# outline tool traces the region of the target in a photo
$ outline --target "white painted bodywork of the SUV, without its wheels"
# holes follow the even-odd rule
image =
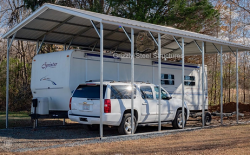
[[[100,124],[100,98],[88,98],[86,95],[85,97],[80,97],[75,95],[76,93],[81,93],[82,89],[86,88],[93,88],[97,87],[100,88],[100,82],[90,82],[84,85],[80,85],[76,91],[74,92],[72,99],[71,99],[71,110],[69,110],[69,119],[72,121],[79,122],[81,124]],[[131,89],[120,91],[123,92],[122,95],[118,94],[114,95],[114,91],[118,92],[116,88],[131,88],[130,83],[123,83],[123,82],[104,82],[104,107],[105,107],[105,100],[109,100],[111,104],[111,111],[110,113],[104,113],[102,115],[103,124],[104,125],[112,125],[112,126],[119,126],[123,119],[125,113],[130,113],[131,110]],[[151,91],[149,91],[151,88]],[[158,86],[154,84],[147,84],[147,83],[137,83],[135,84],[135,96],[134,96],[134,115],[137,118],[137,123],[155,123],[158,122],[158,99],[156,97],[156,91],[158,90]],[[87,91],[87,90],[85,90]],[[170,95],[167,93],[165,89],[162,88],[166,94],[165,96]],[[115,93],[116,93],[115,92]],[[148,97],[142,97],[141,92],[152,92],[147,93]],[[100,90],[92,91],[91,93],[96,93],[96,97],[99,96]],[[116,96],[126,96],[124,98],[117,98]],[[88,95],[87,95],[88,96]],[[93,96],[92,94],[89,96]],[[189,110],[185,106],[186,116],[187,119],[189,117]],[[86,108],[87,107],[87,108]],[[182,100],[171,98],[171,99],[162,99],[161,100],[161,121],[162,122],[172,122],[175,119],[178,110],[182,108]]]

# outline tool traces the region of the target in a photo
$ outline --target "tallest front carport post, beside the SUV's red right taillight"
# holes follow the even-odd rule
[[[98,31],[97,31],[98,32]],[[100,139],[103,137],[103,24],[100,23]]]

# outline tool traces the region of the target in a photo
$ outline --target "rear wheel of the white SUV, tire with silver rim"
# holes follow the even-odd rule
[[[121,135],[130,135],[131,134],[132,127],[131,127],[131,125],[128,126],[129,122],[131,123],[131,114],[128,113],[128,114],[123,115],[122,122],[121,122],[120,126],[118,127],[119,134],[121,134]],[[134,117],[133,124],[134,124],[134,133],[135,133],[136,128],[137,128],[137,121],[136,121],[135,117]]]

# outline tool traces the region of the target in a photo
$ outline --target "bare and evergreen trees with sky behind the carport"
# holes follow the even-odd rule
[[[250,44],[248,0],[0,0],[0,35],[17,25],[44,3],[90,10],[158,25],[211,35],[230,42]],[[41,53],[60,50],[45,44]],[[6,102],[6,40],[0,38],[0,110]],[[29,111],[31,63],[36,43],[14,41],[10,51],[11,111]],[[178,61],[178,60],[175,60]],[[201,64],[201,56],[186,56],[185,62]],[[236,101],[236,60],[223,54],[223,101]],[[220,56],[205,55],[208,66],[209,105],[220,103]],[[239,101],[249,104],[249,51],[239,53]]]

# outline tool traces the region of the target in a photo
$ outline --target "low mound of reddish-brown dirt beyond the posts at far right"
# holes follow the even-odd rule
[[[209,111],[220,112],[220,105],[210,106]],[[231,112],[235,112],[235,111],[236,111],[236,103],[235,102],[229,102],[229,103],[223,104],[223,112],[224,113],[231,113]],[[239,102],[239,112],[240,113],[250,112],[250,104],[243,104],[243,103]]]

